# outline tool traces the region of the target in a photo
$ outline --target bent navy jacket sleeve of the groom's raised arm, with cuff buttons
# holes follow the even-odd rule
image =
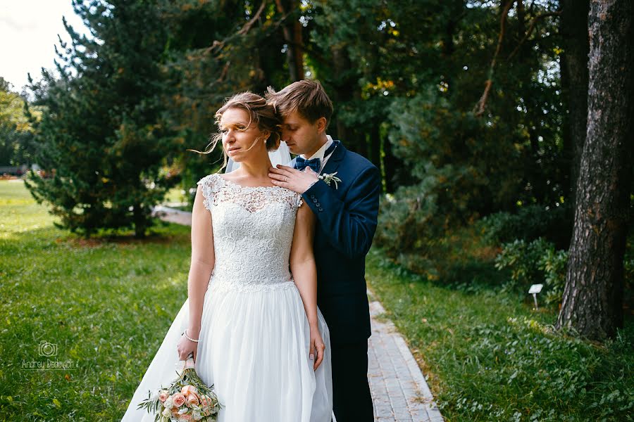
[[[380,173],[378,168],[366,167],[352,181],[345,202],[335,195],[335,188],[317,181],[302,194],[315,213],[330,243],[349,258],[368,253],[376,231]]]

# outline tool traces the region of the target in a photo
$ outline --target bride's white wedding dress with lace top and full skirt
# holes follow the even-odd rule
[[[213,384],[218,422],[329,422],[332,374],[328,326],[321,366],[309,359],[310,328],[289,271],[301,196],[280,187],[244,187],[219,174],[201,179],[211,212],[216,264],[201,317],[196,371]],[[305,205],[304,205],[305,206]],[[189,322],[189,300],[154,356],[123,421],[150,422],[137,405],[175,379],[176,345]]]

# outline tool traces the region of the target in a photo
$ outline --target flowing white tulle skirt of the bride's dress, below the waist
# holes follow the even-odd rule
[[[218,422],[330,422],[330,334],[318,310],[326,349],[316,371],[309,358],[310,328],[297,287],[290,282],[241,290],[212,281],[205,294],[196,371],[213,384],[223,409]],[[189,323],[180,308],[122,421],[154,422],[137,405],[180,369],[176,345]]]

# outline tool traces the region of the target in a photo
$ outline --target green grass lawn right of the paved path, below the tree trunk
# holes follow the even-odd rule
[[[472,275],[469,275],[470,277]],[[592,345],[552,333],[554,309],[449,288],[368,256],[367,279],[406,337],[447,421],[632,421],[634,330]]]

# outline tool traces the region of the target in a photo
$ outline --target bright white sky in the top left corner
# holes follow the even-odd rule
[[[0,76],[13,91],[22,91],[27,72],[38,80],[42,67],[55,68],[57,34],[70,40],[62,16],[75,31],[87,33],[70,0],[0,0]]]

